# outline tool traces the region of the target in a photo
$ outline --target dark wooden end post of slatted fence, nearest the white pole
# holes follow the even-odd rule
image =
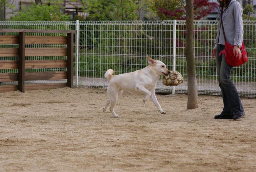
[[[74,88],[73,80],[73,33],[67,33],[67,87]]]

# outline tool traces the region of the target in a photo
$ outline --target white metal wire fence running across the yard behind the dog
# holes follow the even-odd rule
[[[160,78],[157,92],[187,92],[185,21],[0,22],[0,28],[77,30],[74,36],[74,73],[78,87],[106,88],[108,80],[104,73],[108,68],[115,70],[116,75],[133,72],[148,65],[148,55],[184,76],[184,83],[175,89],[163,85]],[[194,54],[200,94],[221,95],[216,61],[211,57],[216,34],[217,21],[194,21]],[[256,21],[244,21],[244,43],[249,59],[232,70],[232,80],[241,96],[256,97],[255,37]]]

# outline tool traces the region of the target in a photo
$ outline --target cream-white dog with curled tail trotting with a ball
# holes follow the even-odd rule
[[[111,104],[111,113],[116,118],[120,117],[116,115],[114,106],[119,95],[123,92],[123,90],[126,90],[134,94],[144,94],[144,103],[150,97],[161,114],[166,113],[163,111],[162,107],[157,101],[157,97],[155,96],[155,87],[160,75],[168,75],[170,71],[166,68],[166,65],[163,62],[159,60],[153,60],[148,56],[147,58],[149,65],[141,70],[136,70],[135,72],[123,73],[113,76],[114,70],[107,70],[105,77],[109,79],[109,85],[107,88],[109,100],[107,101],[103,112],[105,112],[108,105]]]

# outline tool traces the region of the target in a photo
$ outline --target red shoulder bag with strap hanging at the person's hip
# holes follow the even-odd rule
[[[248,60],[248,55],[244,46],[244,42],[242,42],[242,47],[240,48],[241,54],[242,54],[242,58],[236,57],[234,55],[234,46],[230,45],[227,42],[226,39],[226,35],[225,35],[225,31],[224,31],[224,26],[223,26],[223,22],[222,22],[222,14],[223,14],[223,7],[221,9],[221,26],[222,26],[222,31],[223,31],[223,35],[224,35],[224,39],[225,39],[225,49],[222,50],[219,55],[224,54],[225,55],[225,59],[227,64],[231,65],[231,66],[239,66],[242,65],[243,63],[247,62]]]

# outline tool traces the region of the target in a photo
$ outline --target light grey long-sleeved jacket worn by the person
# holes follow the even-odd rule
[[[239,48],[243,42],[243,8],[236,0],[232,0],[229,6],[224,10],[222,21],[227,38],[230,45],[237,45]],[[221,26],[221,7],[218,8],[218,31],[215,40],[215,48],[217,44],[225,44],[222,26]]]

